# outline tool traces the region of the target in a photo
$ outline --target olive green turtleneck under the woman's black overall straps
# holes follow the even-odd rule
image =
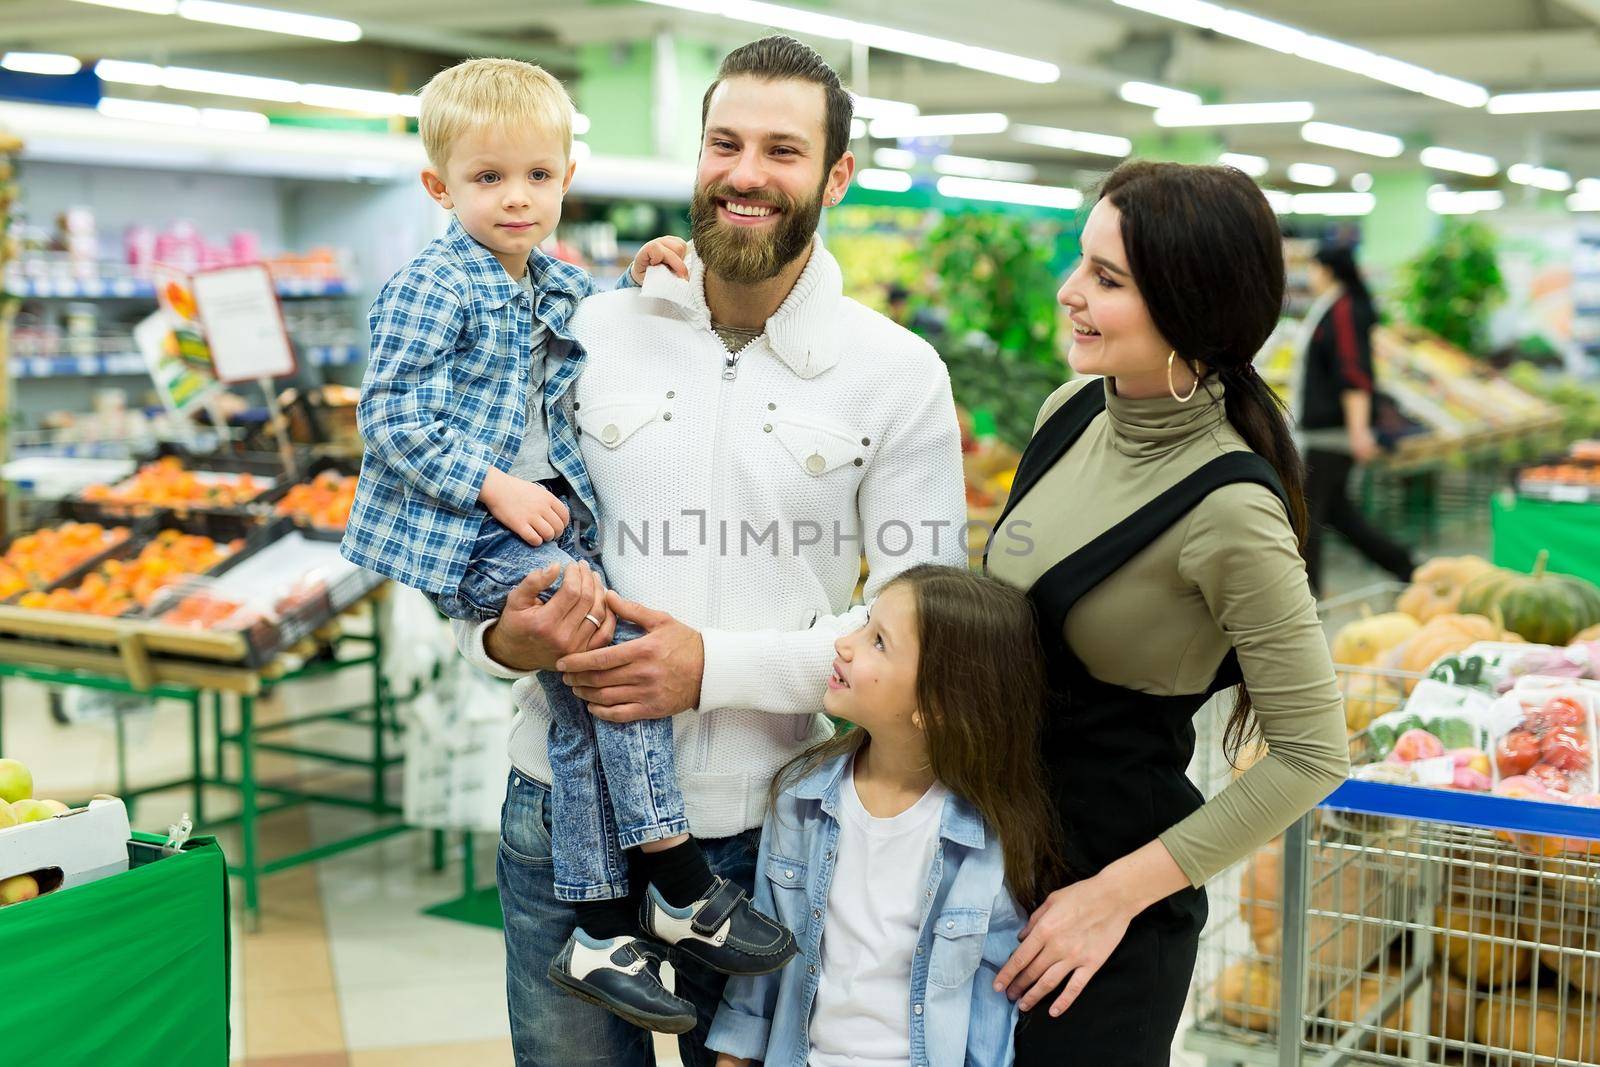
[[[1038,424],[1078,389],[1106,389],[1106,414],[1018,502],[989,550],[990,573],[1019,589],[1208,461],[1250,448],[1216,381],[1187,403],[1128,400],[1110,379],[1072,381],[1045,402]],[[1211,493],[1085,593],[1064,638],[1101,681],[1160,696],[1203,691],[1237,649],[1269,755],[1162,833],[1192,885],[1280,833],[1349,771],[1306,566],[1283,504],[1264,486]]]

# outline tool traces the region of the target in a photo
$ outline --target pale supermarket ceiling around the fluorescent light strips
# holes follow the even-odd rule
[[[70,0],[0,0],[0,50],[146,59],[410,91],[464,54],[522,56],[573,75],[578,45],[648,40],[666,32],[733,46],[763,32],[752,24],[634,0],[269,2],[352,19],[365,37],[355,45],[331,45]],[[1579,178],[1600,176],[1600,112],[1490,115],[1112,0],[834,0],[821,6],[830,14],[1046,59],[1062,69],[1059,82],[1032,85],[872,51],[867,91],[910,101],[923,112],[1002,110],[1014,122],[1139,138],[1158,133],[1150,109],[1125,104],[1115,93],[1122,80],[1139,78],[1198,91],[1218,102],[1306,99],[1317,106],[1318,120],[1406,139],[1403,157],[1381,160],[1306,144],[1298,125],[1219,131],[1229,149],[1269,157],[1275,178],[1290,162],[1330,163],[1346,176],[1416,166],[1416,150],[1426,144],[1486,152],[1502,166],[1526,160]],[[1238,0],[1232,6],[1475,82],[1491,93],[1600,90],[1600,0]],[[981,22],[974,10],[982,13]],[[840,66],[846,80],[861,80],[861,72],[851,70],[850,45],[822,38],[811,43]],[[163,98],[160,91],[149,94]],[[581,104],[581,83],[576,96]],[[165,98],[248,106],[222,98]],[[592,118],[605,122],[605,115]],[[1030,162],[1043,179],[1062,182],[1107,162],[1019,144],[1005,134],[960,138],[952,150]],[[1451,184],[1470,186],[1472,179],[1453,176]]]

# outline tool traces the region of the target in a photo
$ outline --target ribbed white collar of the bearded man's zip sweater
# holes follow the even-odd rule
[[[666,267],[645,272],[642,291],[667,301],[701,330],[710,330],[706,306],[706,261],[690,246],[690,277],[680,278]],[[838,262],[811,238],[811,259],[789,290],[789,296],[766,320],[766,344],[773,354],[800,378],[816,378],[838,363],[838,302],[845,294],[845,278]]]

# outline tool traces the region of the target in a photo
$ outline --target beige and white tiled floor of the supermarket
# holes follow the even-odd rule
[[[1482,547],[1466,531],[1450,545]],[[1328,547],[1330,593],[1381,577],[1342,544]],[[10,753],[27,760],[43,793],[86,797],[115,787],[114,736],[106,723],[62,726],[38,686],[6,683]],[[296,709],[325,705],[336,693],[285,693]],[[282,713],[267,702],[262,717]],[[131,776],[154,781],[186,773],[189,725],[178,705],[130,720]],[[326,726],[294,731],[331,744]],[[293,776],[282,757],[262,757],[266,779]],[[186,793],[146,800],[134,817],[162,829]],[[331,811],[331,813],[330,813]],[[365,816],[322,809],[285,813],[264,824],[264,851],[277,854],[363,825]],[[232,838],[222,833],[224,846]],[[493,841],[477,848],[482,878],[493,872]],[[262,923],[234,931],[234,1064],[248,1067],[507,1067],[512,1064],[504,1006],[504,949],[498,931],[422,915],[461,891],[459,862],[434,872],[424,833],[389,838],[264,881]],[[235,893],[235,902],[238,894]],[[677,1064],[661,1049],[662,1064]],[[1203,1061],[1174,1048],[1174,1064]]]

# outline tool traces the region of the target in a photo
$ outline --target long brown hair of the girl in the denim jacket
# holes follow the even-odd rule
[[[1032,910],[1066,885],[1038,752],[1045,669],[1034,609],[1016,589],[954,566],[914,566],[893,587],[917,605],[917,710],[933,774],[1000,837],[1006,886]],[[773,795],[866,742],[864,729],[846,729],[813,745],[778,773]]]

